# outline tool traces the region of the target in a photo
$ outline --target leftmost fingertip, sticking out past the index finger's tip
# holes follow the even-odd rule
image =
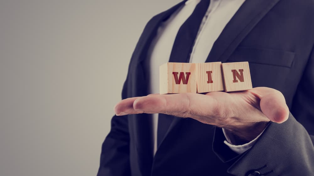
[[[143,111],[137,111],[133,109],[133,102],[139,97],[127,98],[116,104],[114,111],[117,116],[123,116],[127,114],[139,114]]]

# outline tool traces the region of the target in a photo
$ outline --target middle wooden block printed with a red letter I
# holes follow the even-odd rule
[[[224,91],[221,62],[196,64],[197,93]]]

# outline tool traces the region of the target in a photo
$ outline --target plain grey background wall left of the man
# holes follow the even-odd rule
[[[179,0],[0,0],[0,175],[96,175],[145,23]]]

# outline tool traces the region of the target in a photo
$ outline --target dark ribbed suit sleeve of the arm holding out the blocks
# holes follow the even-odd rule
[[[314,49],[297,87],[288,120],[282,124],[270,122],[255,145],[238,156],[225,155],[228,151],[223,146],[223,133],[216,128],[213,150],[223,162],[236,158],[227,170],[233,175],[314,175],[313,141]]]

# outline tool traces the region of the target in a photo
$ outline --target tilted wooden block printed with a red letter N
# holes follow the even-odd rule
[[[225,91],[245,91],[252,89],[248,62],[230,62],[222,64]]]

